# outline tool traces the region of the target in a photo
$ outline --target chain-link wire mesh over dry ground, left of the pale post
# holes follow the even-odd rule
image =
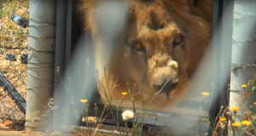
[[[29,0],[0,0],[0,122],[26,113]]]

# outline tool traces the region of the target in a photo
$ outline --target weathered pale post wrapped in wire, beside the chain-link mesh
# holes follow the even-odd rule
[[[26,93],[26,129],[29,131],[44,131],[49,127],[49,116],[44,116],[48,108],[44,105],[48,105],[54,86],[55,8],[55,0],[30,1]]]

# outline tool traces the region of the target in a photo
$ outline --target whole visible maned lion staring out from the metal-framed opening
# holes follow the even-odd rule
[[[85,31],[90,31],[95,44],[98,91],[104,103],[134,100],[139,108],[153,99],[150,108],[162,109],[188,91],[189,80],[211,43],[212,1],[197,0],[196,6],[191,0],[82,1],[80,10]],[[120,8],[125,15],[108,8],[114,4],[127,5]],[[111,13],[117,15],[108,20],[104,14]],[[112,20],[117,21],[111,24]],[[118,30],[108,28],[111,25]],[[108,36],[108,31],[116,33]]]

